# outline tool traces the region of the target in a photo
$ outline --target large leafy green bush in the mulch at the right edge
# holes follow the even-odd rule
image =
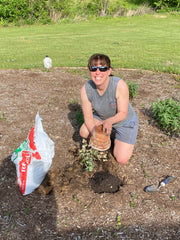
[[[166,131],[168,135],[180,134],[180,103],[167,98],[162,101],[152,103],[152,110],[159,127]]]

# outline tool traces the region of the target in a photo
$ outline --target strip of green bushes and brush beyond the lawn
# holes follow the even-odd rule
[[[178,9],[180,0],[0,0],[0,23],[43,24],[62,18],[123,15],[130,4]]]

